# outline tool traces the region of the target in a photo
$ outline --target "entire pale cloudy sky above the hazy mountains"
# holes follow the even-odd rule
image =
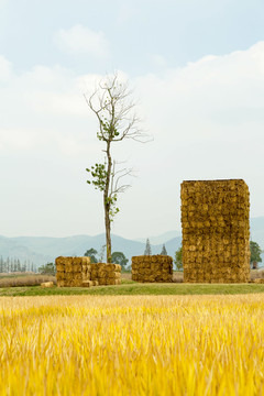
[[[146,144],[116,143],[134,169],[112,232],[180,230],[180,183],[243,178],[264,216],[262,0],[0,0],[0,234],[96,235],[103,162],[84,94],[127,79]]]

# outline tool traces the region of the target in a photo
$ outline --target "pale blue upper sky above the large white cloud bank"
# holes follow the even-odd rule
[[[16,70],[62,64],[76,73],[111,67],[131,75],[183,66],[208,54],[246,50],[264,35],[262,0],[6,0],[0,15],[0,52]],[[102,32],[108,58],[73,57],[54,44],[57,31],[81,24]],[[160,70],[162,66],[160,65]]]

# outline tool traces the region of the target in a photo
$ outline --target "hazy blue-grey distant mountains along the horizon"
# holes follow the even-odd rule
[[[174,256],[180,246],[182,237],[179,231],[168,231],[161,235],[148,237],[153,254],[160,254],[165,243],[168,255]],[[264,217],[251,219],[251,239],[257,242],[264,250]],[[100,252],[105,245],[105,234],[96,237],[75,235],[67,238],[46,237],[0,237],[0,256],[19,258],[21,262],[30,261],[36,266],[54,261],[59,255],[84,255],[94,248]],[[112,235],[112,252],[123,252],[131,260],[132,255],[144,254],[145,239],[136,241]],[[262,254],[264,265],[264,254]]]

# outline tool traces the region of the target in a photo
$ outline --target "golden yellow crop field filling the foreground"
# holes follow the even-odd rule
[[[2,297],[0,395],[264,395],[264,296]]]

